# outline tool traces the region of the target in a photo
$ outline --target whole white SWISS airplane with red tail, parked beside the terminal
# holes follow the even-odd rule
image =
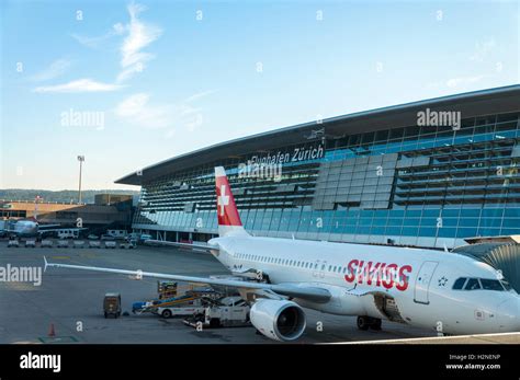
[[[231,273],[259,281],[215,279],[92,266],[76,268],[237,288],[252,303],[250,320],[263,335],[297,339],[304,308],[358,315],[358,326],[389,320],[442,332],[520,331],[520,297],[491,266],[455,253],[251,237],[244,229],[224,168],[215,168],[219,237],[208,250]]]

